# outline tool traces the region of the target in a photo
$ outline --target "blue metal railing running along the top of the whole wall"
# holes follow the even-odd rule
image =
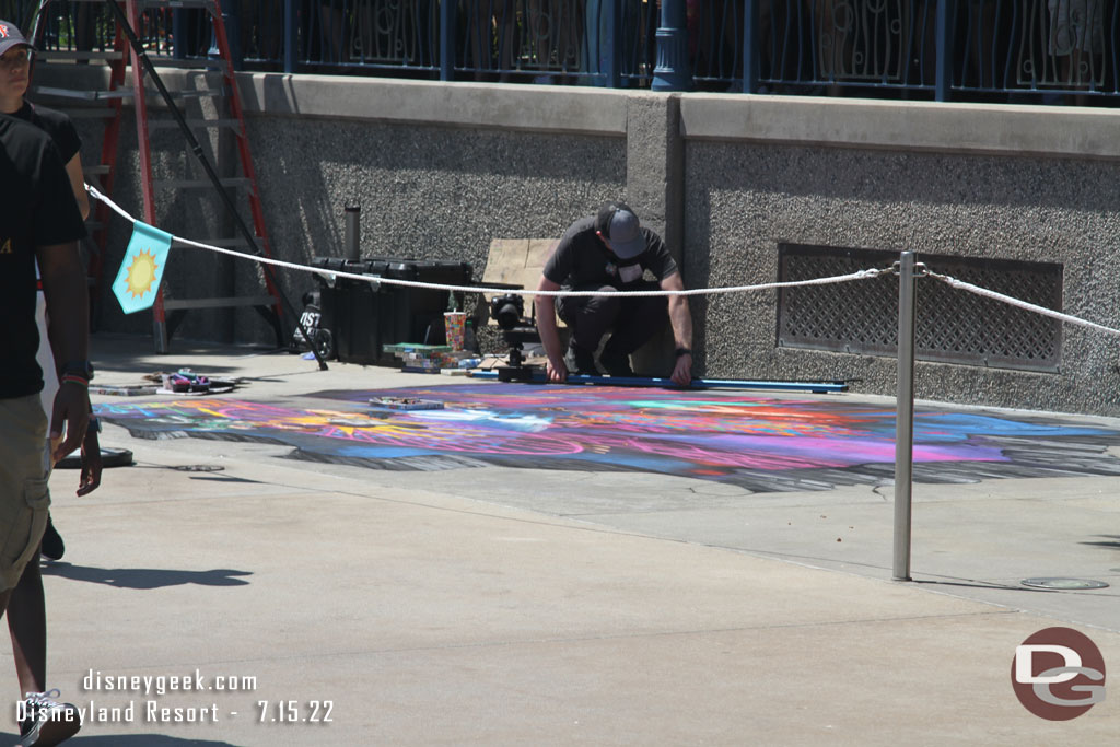
[[[687,6],[687,87],[1114,105],[1120,0],[223,0],[245,69],[647,87],[662,4]],[[37,3],[0,2],[30,28]],[[45,49],[112,44],[54,0]],[[155,55],[198,57],[202,11],[144,11]]]

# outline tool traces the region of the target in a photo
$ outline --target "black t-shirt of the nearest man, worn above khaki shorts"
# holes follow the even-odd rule
[[[58,149],[46,132],[0,114],[0,399],[35,394],[35,248],[85,235]]]

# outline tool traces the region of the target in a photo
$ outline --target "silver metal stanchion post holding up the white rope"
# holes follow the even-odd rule
[[[895,418],[894,579],[909,581],[914,478],[914,253],[898,263],[898,389]]]

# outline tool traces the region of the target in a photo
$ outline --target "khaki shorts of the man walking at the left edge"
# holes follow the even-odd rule
[[[19,582],[47,525],[47,417],[39,395],[0,400],[0,591]]]

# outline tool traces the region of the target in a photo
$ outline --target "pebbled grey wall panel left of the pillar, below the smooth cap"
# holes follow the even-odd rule
[[[469,262],[494,237],[560,235],[624,188],[617,139],[438,127],[254,119],[267,221],[287,261],[344,254],[344,209],[362,207],[363,256]],[[307,153],[319,155],[307,158]],[[295,298],[315,287],[283,272]]]

